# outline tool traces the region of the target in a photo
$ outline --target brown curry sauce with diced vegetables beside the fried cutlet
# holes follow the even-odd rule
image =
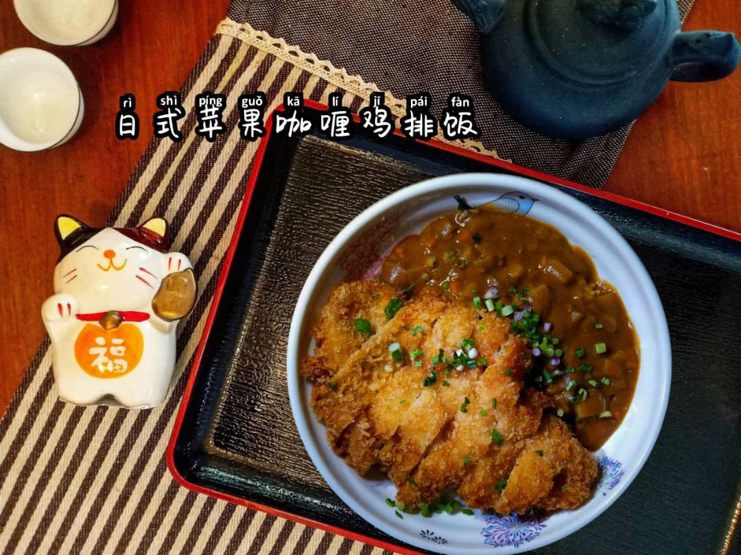
[[[381,275],[399,291],[439,287],[511,318],[532,357],[529,383],[587,448],[622,422],[638,378],[633,324],[589,256],[554,227],[463,203],[402,240]]]

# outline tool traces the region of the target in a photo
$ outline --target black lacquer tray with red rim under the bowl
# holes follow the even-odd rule
[[[319,106],[305,113],[319,120]],[[179,482],[402,553],[330,490],[299,438],[285,350],[303,283],[330,240],[374,201],[458,172],[535,178],[631,243],[656,283],[674,349],[659,439],[628,491],[542,554],[738,553],[741,507],[741,235],[507,162],[358,124],[349,141],[263,139],[167,451]]]

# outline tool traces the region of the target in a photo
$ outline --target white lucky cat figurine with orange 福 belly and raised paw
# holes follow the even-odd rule
[[[150,408],[167,397],[176,327],[196,301],[190,261],[167,252],[167,221],[91,229],[60,215],[62,253],[41,316],[59,397],[78,405]]]

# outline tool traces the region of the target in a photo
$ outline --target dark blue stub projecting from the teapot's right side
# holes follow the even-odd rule
[[[741,48],[733,33],[689,31],[674,37],[669,63],[672,81],[715,81],[734,72]]]

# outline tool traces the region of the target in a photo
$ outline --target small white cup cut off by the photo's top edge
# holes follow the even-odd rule
[[[59,46],[99,41],[119,15],[119,0],[13,0],[13,4],[27,30]]]

